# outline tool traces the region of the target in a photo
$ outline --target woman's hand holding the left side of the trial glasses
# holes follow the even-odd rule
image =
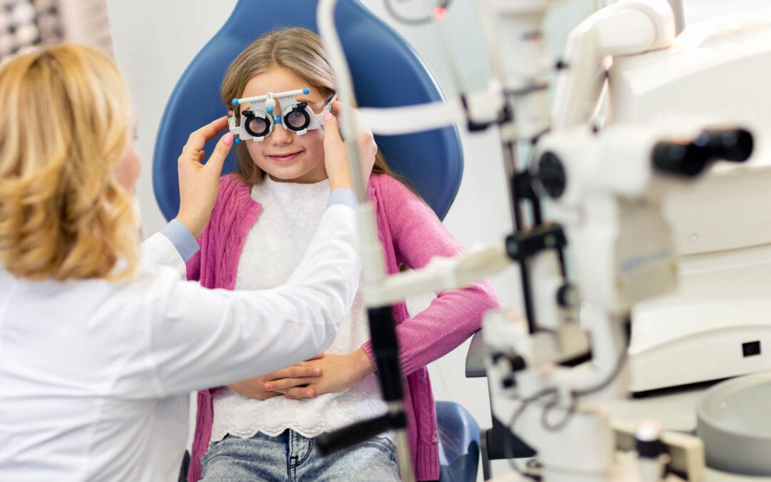
[[[211,154],[207,163],[204,160],[204,144],[214,139],[222,130],[227,129],[227,116],[222,116],[190,134],[177,160],[180,177],[180,211],[177,221],[187,226],[190,233],[198,239],[209,224],[211,210],[217,201],[220,190],[222,164],[233,146],[233,134],[225,134]]]

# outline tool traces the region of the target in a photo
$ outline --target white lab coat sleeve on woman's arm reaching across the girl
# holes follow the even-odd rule
[[[336,204],[287,285],[233,292],[170,283],[152,327],[162,394],[221,386],[323,352],[359,288],[357,250],[354,211]]]

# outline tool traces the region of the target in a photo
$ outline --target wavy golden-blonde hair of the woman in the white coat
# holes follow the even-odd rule
[[[115,179],[130,146],[130,96],[115,62],[49,47],[0,67],[0,262],[15,276],[126,278],[139,238]]]

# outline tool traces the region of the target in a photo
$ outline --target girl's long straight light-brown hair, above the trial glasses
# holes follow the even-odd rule
[[[315,32],[293,27],[261,35],[236,57],[222,80],[220,93],[223,102],[229,109],[233,108],[233,99],[241,97],[249,79],[274,67],[282,67],[305,79],[309,87],[318,90],[327,101],[337,92],[335,72],[329,64],[321,39]],[[345,101],[355,105],[352,99]],[[238,115],[237,109],[234,113]],[[236,146],[236,158],[238,175],[242,180],[254,184],[261,179],[262,171],[251,160],[246,143]],[[372,172],[398,177],[380,153],[375,156]]]

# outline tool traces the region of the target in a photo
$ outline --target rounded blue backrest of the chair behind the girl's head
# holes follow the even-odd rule
[[[231,62],[264,32],[301,26],[318,32],[315,0],[239,0],[219,32],[190,62],[174,88],[156,140],[153,189],[163,215],[179,209],[177,157],[191,132],[227,113],[220,86]],[[356,0],[335,10],[360,106],[391,107],[443,99],[433,75],[416,52]],[[463,152],[455,127],[401,136],[375,137],[380,152],[443,218],[463,174]],[[205,150],[211,152],[214,141]],[[231,153],[224,173],[235,168]]]

